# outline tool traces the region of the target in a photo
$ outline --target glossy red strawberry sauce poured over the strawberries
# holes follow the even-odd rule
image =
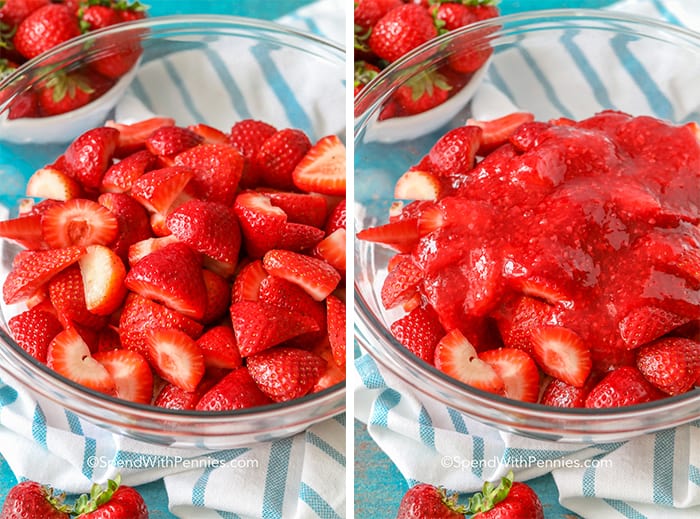
[[[689,125],[619,112],[529,123],[447,182],[436,202],[446,223],[412,252],[446,329],[498,317],[525,293],[552,303],[548,324],[576,331],[595,362],[700,318],[700,145]],[[656,319],[666,319],[656,337],[639,328]]]

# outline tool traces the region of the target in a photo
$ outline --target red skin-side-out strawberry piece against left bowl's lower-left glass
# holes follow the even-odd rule
[[[11,317],[7,325],[20,348],[43,363],[51,340],[63,330],[56,316],[40,307]]]

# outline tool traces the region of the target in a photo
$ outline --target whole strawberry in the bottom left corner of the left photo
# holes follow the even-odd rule
[[[69,519],[69,511],[63,496],[36,481],[23,481],[8,492],[0,519]]]

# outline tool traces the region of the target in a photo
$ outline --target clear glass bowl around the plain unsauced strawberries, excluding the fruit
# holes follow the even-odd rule
[[[84,66],[134,42],[141,46],[140,60],[108,110],[98,103],[67,114],[85,119],[65,127],[58,140],[42,135],[55,132],[50,123],[35,119],[31,142],[0,141],[0,201],[11,213],[36,169],[52,163],[82,131],[108,119],[129,123],[155,114],[172,117],[180,126],[201,122],[228,131],[237,120],[254,118],[301,129],[313,142],[345,132],[341,47],[273,23],[228,16],[159,17],[81,36],[5,78],[0,113],[35,88],[47,70]],[[6,271],[19,249],[2,245]],[[116,433],[154,444],[219,449],[290,436],[345,409],[344,383],[283,404],[221,413],[172,411],[112,398],[72,383],[26,354],[7,326],[18,310],[2,307],[2,380]]]

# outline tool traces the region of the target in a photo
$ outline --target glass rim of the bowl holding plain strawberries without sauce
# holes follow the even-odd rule
[[[263,30],[273,36],[280,35],[290,37],[300,44],[298,50],[311,53],[314,50],[323,50],[320,54],[324,58],[338,60],[338,66],[343,66],[342,73],[345,73],[345,49],[340,43],[330,39],[312,34],[308,31],[300,30],[294,27],[286,26],[276,22],[267,20],[259,20],[256,18],[247,18],[230,15],[169,15],[145,18],[135,20],[118,25],[106,27],[96,31],[92,31],[74,39],[68,40],[42,54],[32,58],[26,63],[18,67],[12,74],[8,74],[0,80],[0,90],[6,88],[13,82],[21,79],[27,73],[35,70],[37,64],[45,63],[52,57],[62,55],[67,51],[79,49],[83,44],[88,43],[95,38],[109,37],[110,35],[118,35],[124,32],[148,30],[147,34],[153,34],[159,31],[158,34],[168,34],[172,31],[178,33],[195,34],[202,33],[207,30],[221,30],[225,33],[227,29],[237,29],[242,33],[251,30]],[[236,32],[235,34],[238,34]],[[11,100],[12,97],[9,98]],[[0,103],[0,110],[9,101],[4,100]],[[1,144],[1,143],[0,143]],[[7,318],[0,313],[0,320],[4,327],[7,328]],[[7,328],[9,331],[9,328]],[[108,423],[116,427],[128,427],[147,432],[151,436],[172,437],[178,434],[200,435],[201,437],[223,437],[232,433],[218,431],[211,434],[200,433],[194,429],[187,428],[188,426],[196,426],[203,421],[206,421],[207,426],[216,428],[217,426],[225,426],[230,424],[253,423],[256,418],[270,419],[280,414],[289,414],[301,408],[316,409],[316,414],[313,420],[307,421],[300,417],[299,420],[280,422],[278,425],[285,427],[295,426],[299,424],[307,424],[310,426],[323,419],[341,414],[346,409],[346,382],[339,382],[331,387],[325,388],[316,393],[309,393],[303,397],[290,400],[287,402],[278,402],[258,406],[247,409],[227,410],[227,411],[196,411],[196,410],[173,410],[159,408],[154,405],[138,404],[127,400],[119,399],[104,393],[100,393],[80,384],[77,384],[53,370],[46,365],[34,359],[31,355],[25,352],[12,339],[9,333],[5,332],[0,327],[0,359],[5,362],[0,363],[0,373],[3,375],[3,382],[13,380],[13,387],[17,385],[27,389],[31,395],[39,395],[49,401],[66,407],[66,402],[71,404],[81,403],[83,405],[79,410],[75,409],[75,405],[69,407],[77,412],[80,416],[97,420],[106,420]],[[12,372],[20,368],[20,373]],[[41,384],[36,384],[29,379],[29,382],[24,378],[26,375],[40,377]],[[48,384],[47,387],[43,387]],[[90,404],[93,404],[90,406]],[[320,411],[319,411],[320,410]],[[105,412],[109,413],[109,418],[105,416]],[[284,412],[284,413],[283,413]],[[122,420],[115,420],[115,416],[121,416]],[[203,420],[206,419],[206,420]],[[143,422],[140,422],[143,420]],[[152,425],[162,424],[162,429],[155,430]],[[167,424],[171,426],[168,427]],[[173,429],[172,425],[182,426],[182,429]],[[250,430],[243,431],[250,433]],[[254,432],[265,432],[264,429]],[[128,434],[128,431],[126,431]],[[236,433],[233,433],[236,434]]]

